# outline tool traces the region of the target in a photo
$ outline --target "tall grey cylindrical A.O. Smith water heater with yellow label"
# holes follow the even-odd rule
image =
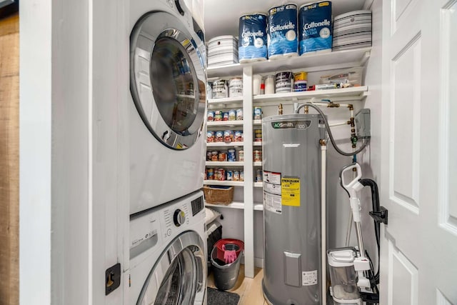
[[[322,117],[269,116],[262,134],[263,295],[275,305],[321,304]]]

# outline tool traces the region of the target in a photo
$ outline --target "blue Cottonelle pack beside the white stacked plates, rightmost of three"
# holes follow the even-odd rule
[[[331,50],[331,1],[319,1],[300,6],[298,29],[300,55],[312,51]]]

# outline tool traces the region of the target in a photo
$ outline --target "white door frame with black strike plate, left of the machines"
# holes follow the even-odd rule
[[[19,5],[21,303],[122,304],[104,286],[129,267],[129,1]]]

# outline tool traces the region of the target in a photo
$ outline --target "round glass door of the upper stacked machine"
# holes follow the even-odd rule
[[[136,109],[156,139],[171,149],[192,146],[204,126],[203,42],[166,12],[143,16],[131,33],[130,88]]]

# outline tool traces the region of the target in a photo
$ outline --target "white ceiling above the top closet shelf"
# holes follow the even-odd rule
[[[366,0],[333,0],[333,16],[363,9]],[[313,1],[278,1],[278,0],[204,0],[204,23],[206,41],[216,36],[238,36],[238,21],[243,14],[264,13],[273,6],[293,3],[300,7]],[[314,1],[316,2],[316,1]],[[369,0],[367,1],[369,2]]]

